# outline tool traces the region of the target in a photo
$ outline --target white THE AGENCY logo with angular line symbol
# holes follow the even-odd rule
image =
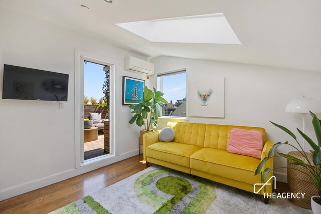
[[[269,181],[272,180],[272,183],[269,183]],[[272,175],[265,183],[255,183],[253,186],[253,192],[254,193],[259,193],[264,186],[266,185],[272,185],[274,184],[274,189],[276,188],[276,177],[274,175]],[[261,187],[259,188],[259,190],[255,191],[255,186],[260,185]],[[269,197],[269,198],[304,198],[305,192],[263,192],[264,197]]]

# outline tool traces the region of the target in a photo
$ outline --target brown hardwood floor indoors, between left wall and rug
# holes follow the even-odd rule
[[[151,164],[152,165],[152,164]],[[0,213],[48,213],[147,168],[136,155],[91,172],[0,201]],[[276,192],[288,192],[277,182]]]

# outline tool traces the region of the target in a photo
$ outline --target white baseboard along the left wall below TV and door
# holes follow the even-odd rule
[[[95,170],[97,168],[101,168],[103,166],[107,166],[109,164],[118,162],[120,160],[124,160],[126,158],[135,156],[137,154],[138,154],[138,149],[134,149],[132,151],[120,154],[118,156],[111,156],[110,158],[106,158],[104,160],[99,160],[97,162],[81,166],[80,168],[77,168],[77,169],[70,169],[70,170],[53,174],[47,177],[22,183],[16,186],[11,186],[9,188],[1,189],[0,201],[35,190],[35,189],[42,188],[44,186],[51,185],[53,183],[60,182],[62,180],[66,180],[68,178]]]

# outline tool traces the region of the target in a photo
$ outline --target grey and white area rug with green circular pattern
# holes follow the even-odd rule
[[[270,199],[153,165],[51,213],[302,213],[287,199]]]

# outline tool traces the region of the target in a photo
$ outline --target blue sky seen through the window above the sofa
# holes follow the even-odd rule
[[[186,73],[163,76],[164,98],[170,103],[186,97]]]

